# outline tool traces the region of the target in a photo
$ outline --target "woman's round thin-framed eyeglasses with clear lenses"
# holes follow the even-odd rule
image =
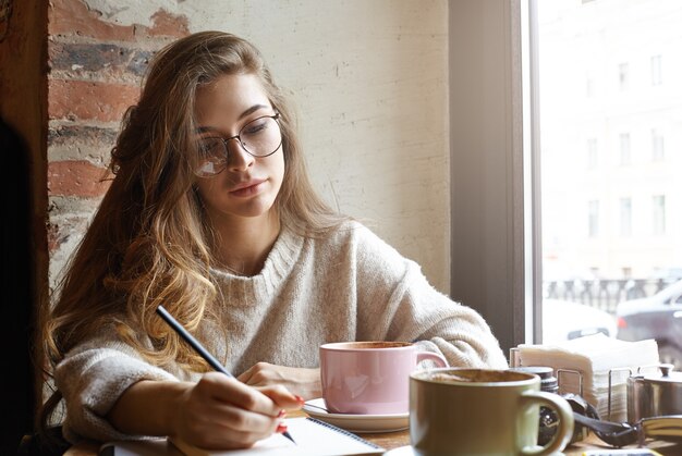
[[[242,149],[253,157],[268,157],[277,152],[282,145],[282,132],[279,126],[279,116],[264,115],[254,119],[240,130],[239,134],[223,138],[219,136],[204,137],[199,140],[199,165],[195,174],[199,177],[210,177],[220,174],[228,167],[228,141],[236,139]]]

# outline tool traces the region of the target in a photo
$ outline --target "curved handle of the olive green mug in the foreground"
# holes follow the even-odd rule
[[[522,393],[520,400],[522,408],[540,404],[555,410],[559,417],[557,432],[547,445],[539,448],[536,445],[525,446],[521,449],[521,454],[540,456],[560,452],[565,448],[573,436],[573,409],[568,400],[555,393],[547,393],[545,391],[526,391]]]

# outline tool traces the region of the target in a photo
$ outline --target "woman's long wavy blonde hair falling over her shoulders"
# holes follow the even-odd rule
[[[214,239],[193,188],[194,102],[199,86],[226,74],[257,75],[280,113],[285,171],[275,208],[282,224],[316,236],[345,219],[314,192],[292,108],[253,45],[203,32],[167,46],[148,69],[138,103],[123,119],[111,152],[114,178],[68,264],[54,306],[41,318],[48,374],[71,348],[112,322],[149,362],[207,370],[155,309],[163,304],[191,332],[216,315],[209,276]],[[44,405],[41,427],[60,399],[56,391]]]

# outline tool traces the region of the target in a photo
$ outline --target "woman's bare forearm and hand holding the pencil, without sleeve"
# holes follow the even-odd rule
[[[281,386],[254,389],[211,372],[197,383],[139,381],[121,395],[108,418],[126,434],[171,435],[227,449],[283,432],[284,409],[300,406]]]

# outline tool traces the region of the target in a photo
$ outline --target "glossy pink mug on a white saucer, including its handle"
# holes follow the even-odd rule
[[[334,414],[394,415],[410,408],[410,373],[426,359],[448,361],[409,342],[338,342],[319,347],[322,397]]]

